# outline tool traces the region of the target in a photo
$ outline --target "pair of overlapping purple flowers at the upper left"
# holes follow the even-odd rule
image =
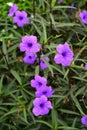
[[[18,27],[23,27],[29,23],[27,13],[25,11],[19,11],[16,4],[10,8],[8,16],[13,17],[13,22],[16,23]]]

